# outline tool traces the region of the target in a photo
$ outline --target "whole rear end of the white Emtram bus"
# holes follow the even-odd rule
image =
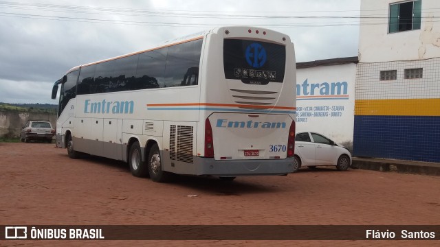
[[[289,36],[221,27],[206,36],[201,64],[197,174],[293,172],[296,66]]]

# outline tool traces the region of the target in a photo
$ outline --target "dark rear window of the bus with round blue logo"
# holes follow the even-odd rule
[[[286,49],[284,45],[255,41],[225,39],[223,66],[226,79],[246,84],[283,82]]]

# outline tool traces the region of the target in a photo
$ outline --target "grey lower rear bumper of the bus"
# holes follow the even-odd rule
[[[195,157],[197,175],[252,176],[284,175],[294,172],[294,158],[270,160],[217,161],[214,158]]]

